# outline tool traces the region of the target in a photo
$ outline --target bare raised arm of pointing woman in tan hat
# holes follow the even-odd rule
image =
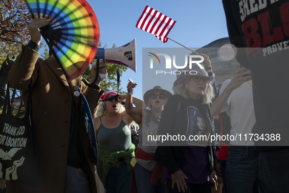
[[[133,118],[133,121],[135,121],[139,126],[142,125],[142,116],[143,113],[145,113],[145,111],[142,109],[142,102],[136,102],[139,103],[137,104],[137,106],[141,107],[141,108],[136,108],[133,107],[133,96],[132,93],[133,92],[133,88],[135,88],[135,86],[137,85],[137,83],[134,83],[133,80],[129,79],[129,83],[128,83],[128,94],[126,97],[126,102],[125,102],[125,108],[126,108],[126,112],[127,114]],[[139,99],[139,98],[138,98]],[[136,104],[134,104],[136,106]]]

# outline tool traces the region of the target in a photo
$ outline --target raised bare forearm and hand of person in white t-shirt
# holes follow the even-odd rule
[[[247,70],[246,68],[241,68],[239,69],[232,81],[228,84],[228,86],[223,90],[223,92],[221,93],[221,95],[219,95],[215,101],[213,102],[212,106],[211,106],[211,113],[212,116],[216,116],[219,115],[222,111],[222,108],[224,107],[224,105],[226,104],[228,98],[230,97],[231,93],[239,88],[243,83],[248,82],[249,80],[251,80],[251,75],[248,76],[244,76],[246,74],[250,74],[250,71]]]

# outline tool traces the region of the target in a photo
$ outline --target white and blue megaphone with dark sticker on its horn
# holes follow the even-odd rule
[[[114,63],[124,65],[136,72],[136,43],[133,41],[117,48],[98,48],[92,65],[96,64],[97,59],[100,62]],[[102,77],[102,74],[99,74]]]

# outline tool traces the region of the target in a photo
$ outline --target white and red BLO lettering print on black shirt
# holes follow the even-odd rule
[[[238,0],[238,4],[250,61],[289,48],[289,2]]]

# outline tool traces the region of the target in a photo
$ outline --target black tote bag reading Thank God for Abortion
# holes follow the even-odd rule
[[[3,112],[0,115],[0,178],[39,187],[38,152],[30,85],[26,108],[24,118],[15,118],[11,114],[8,82]]]

